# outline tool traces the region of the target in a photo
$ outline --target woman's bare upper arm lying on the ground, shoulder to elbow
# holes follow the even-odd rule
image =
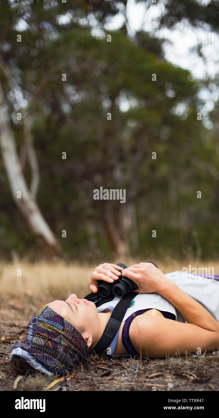
[[[166,354],[203,353],[219,347],[219,332],[161,316],[139,315],[133,319],[129,336],[138,353],[163,358]]]

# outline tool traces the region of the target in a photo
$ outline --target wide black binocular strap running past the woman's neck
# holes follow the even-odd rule
[[[96,354],[103,352],[109,347],[121,325],[121,322],[125,316],[125,313],[128,309],[131,300],[135,296],[136,293],[129,292],[126,296],[124,296],[124,298],[121,299],[121,301],[117,303],[117,305],[113,309],[110,319],[108,320],[108,323],[106,324],[106,328],[103,331],[101,339],[93,348],[93,351],[95,351]]]

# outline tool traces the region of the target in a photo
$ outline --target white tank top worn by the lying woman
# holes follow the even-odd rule
[[[219,281],[182,271],[166,273],[165,276],[176,283],[176,285],[187,293],[187,295],[201,303],[201,305],[204,306],[204,308],[206,308],[206,310],[219,322]],[[110,302],[98,306],[98,310],[103,308],[106,309],[108,306],[115,307],[120,300],[121,299],[114,297]],[[158,293],[136,293],[122,322],[126,321],[133,312],[140,311],[141,309],[158,309],[159,311],[170,312],[176,316],[176,321],[186,322],[180,312]]]

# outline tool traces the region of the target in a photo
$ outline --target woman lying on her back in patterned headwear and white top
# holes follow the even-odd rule
[[[118,265],[104,263],[92,273],[90,289],[98,280],[118,280]],[[219,279],[181,271],[167,273],[151,263],[135,264],[122,272],[137,285],[120,329],[105,352],[163,358],[219,347]],[[42,306],[30,320],[24,338],[13,346],[9,362],[18,373],[39,370],[65,375],[101,339],[120,299],[96,305],[72,294],[66,301]],[[135,314],[135,315],[133,315]]]

